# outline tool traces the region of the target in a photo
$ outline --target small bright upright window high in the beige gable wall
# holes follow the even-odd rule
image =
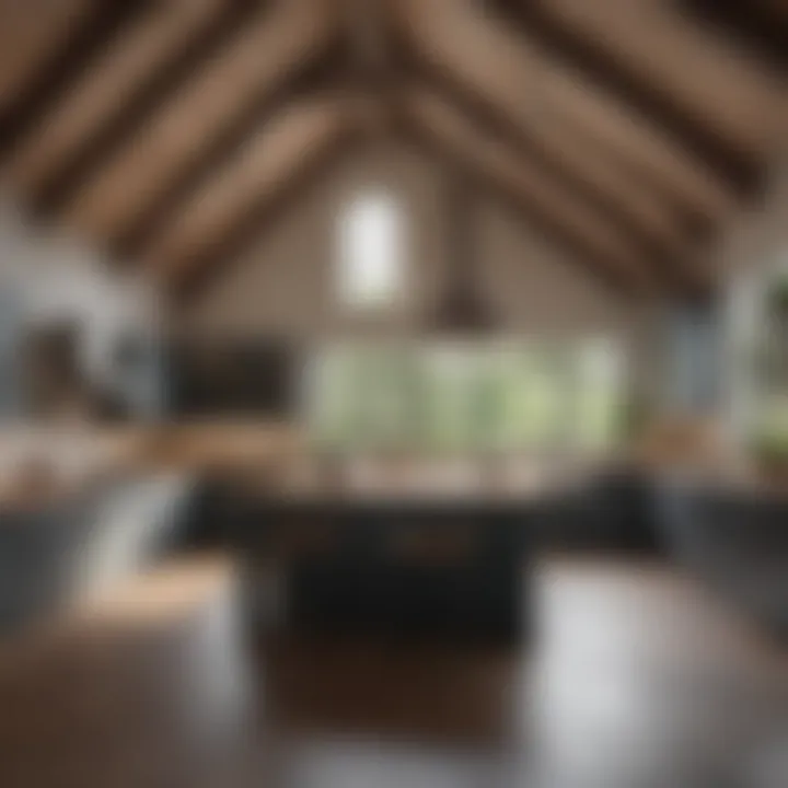
[[[339,217],[337,297],[349,309],[394,305],[403,296],[404,242],[399,202],[386,192],[366,192]]]

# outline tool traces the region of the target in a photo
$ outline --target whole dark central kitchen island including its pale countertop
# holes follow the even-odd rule
[[[387,471],[387,486],[329,472],[290,490],[220,486],[206,519],[224,523],[253,596],[271,572],[280,579],[288,625],[528,639],[533,545],[588,475],[531,476],[506,490],[462,476],[416,489]],[[428,468],[419,472],[424,480]]]

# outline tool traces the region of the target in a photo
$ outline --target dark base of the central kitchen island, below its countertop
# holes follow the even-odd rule
[[[258,498],[232,542],[282,572],[289,624],[518,639],[531,626],[524,501]]]

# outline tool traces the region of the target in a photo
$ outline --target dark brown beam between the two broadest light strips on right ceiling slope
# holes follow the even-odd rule
[[[579,35],[571,27],[545,11],[544,2],[533,0],[496,0],[506,19],[518,25],[524,36],[537,38],[554,57],[570,63],[588,76],[589,82],[599,84],[637,111],[654,125],[664,129],[677,144],[705,166],[720,173],[732,190],[749,196],[762,176],[762,162],[741,150],[726,144],[719,130],[700,124],[687,115],[670,91],[653,79],[646,80],[622,68],[610,57],[602,42]],[[665,53],[670,57],[670,53]]]

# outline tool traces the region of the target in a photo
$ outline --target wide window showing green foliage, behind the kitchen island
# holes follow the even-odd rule
[[[623,372],[603,339],[337,343],[310,368],[311,433],[335,450],[604,450],[623,427]]]

